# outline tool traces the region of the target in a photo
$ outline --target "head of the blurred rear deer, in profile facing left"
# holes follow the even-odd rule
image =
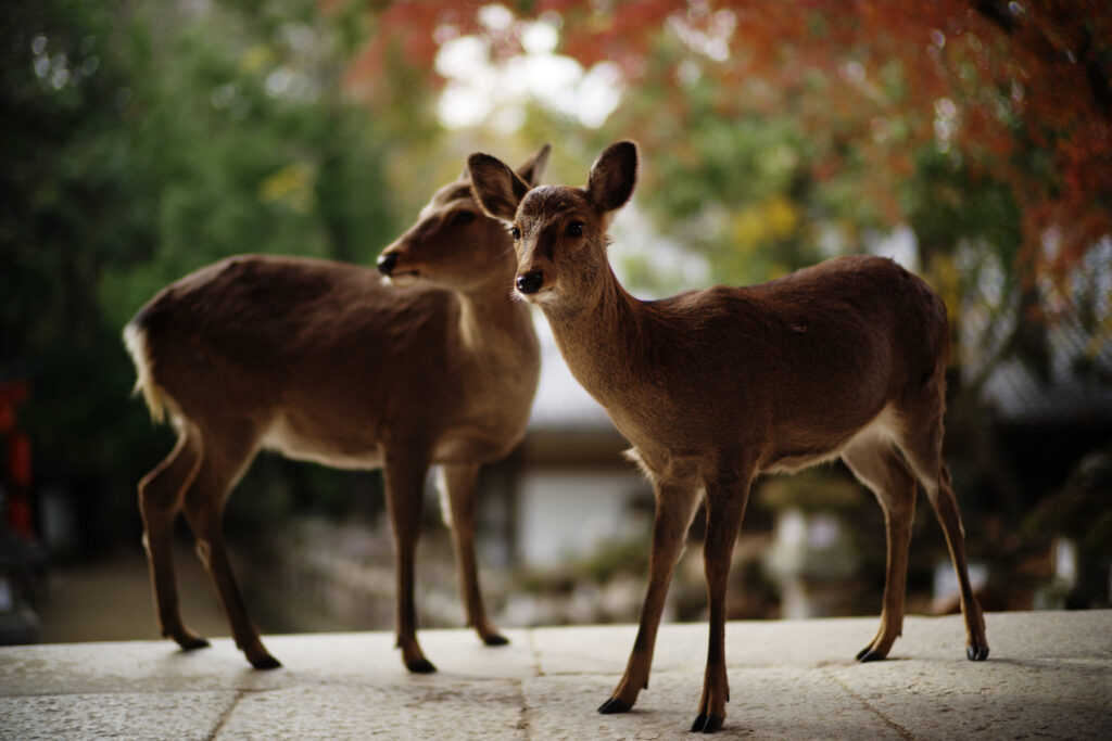
[[[536,186],[550,151],[545,144],[510,174],[529,188]],[[489,254],[476,260],[474,250]],[[378,270],[399,287],[426,281],[438,288],[466,291],[504,279],[505,272],[493,268],[512,263],[513,251],[502,224],[484,214],[465,171],[459,180],[436,191],[421,209],[417,223],[383,250]]]

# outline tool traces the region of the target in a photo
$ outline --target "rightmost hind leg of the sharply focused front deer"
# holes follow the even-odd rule
[[[915,418],[909,415],[907,419]],[[954,497],[950,470],[942,461],[941,411],[929,419],[930,422],[923,428],[905,431],[898,444],[926,490],[926,497],[946,538],[950,559],[961,588],[962,615],[965,618],[965,654],[970,661],[984,661],[989,658],[989,640],[985,637],[984,615],[981,613],[981,605],[973,594],[970,582],[969,561],[965,557],[965,529],[957,512],[957,499]]]

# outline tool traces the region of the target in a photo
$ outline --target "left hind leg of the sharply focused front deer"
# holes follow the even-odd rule
[[[842,453],[842,460],[857,480],[868,487],[884,510],[887,540],[887,572],[884,605],[876,637],[857,653],[857,661],[877,661],[888,655],[903,630],[907,591],[907,549],[915,515],[915,477],[907,464],[883,440],[862,442]]]

